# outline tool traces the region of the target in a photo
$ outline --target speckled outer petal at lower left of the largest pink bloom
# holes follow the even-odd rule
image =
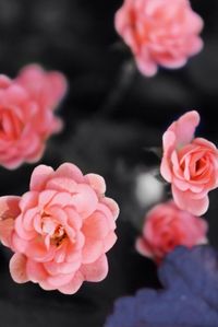
[[[17,283],[25,283],[28,281],[26,275],[26,257],[22,254],[14,254],[10,260],[10,273],[13,280]]]

